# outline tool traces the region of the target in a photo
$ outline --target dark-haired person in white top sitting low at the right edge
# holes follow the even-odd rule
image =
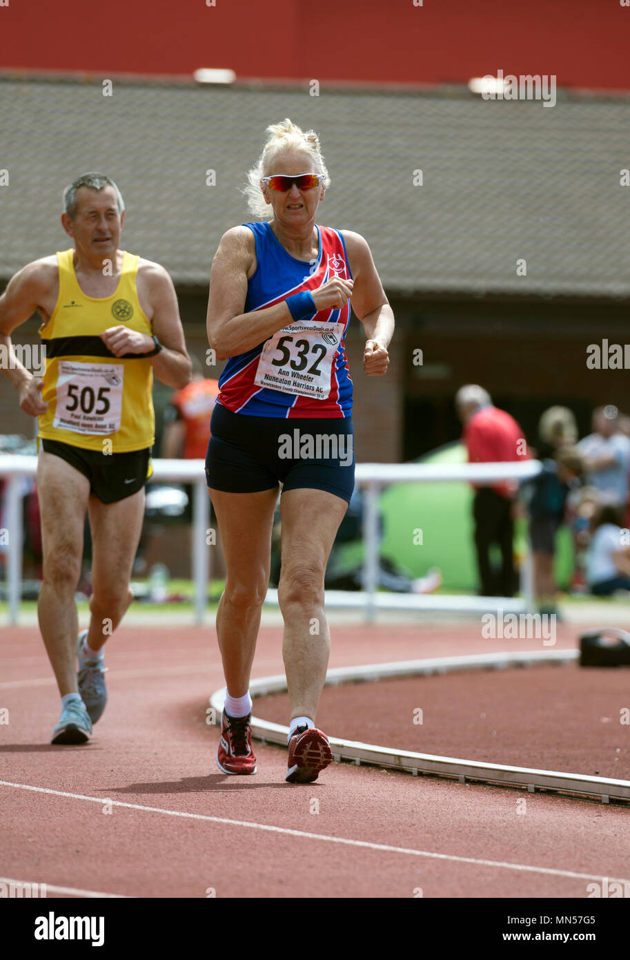
[[[587,582],[595,596],[630,590],[630,545],[620,520],[620,511],[608,504],[595,514],[586,563]]]

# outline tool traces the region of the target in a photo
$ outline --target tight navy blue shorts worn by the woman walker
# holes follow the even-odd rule
[[[355,487],[352,418],[248,417],[215,404],[205,458],[208,487],[232,493],[303,488],[350,502]]]

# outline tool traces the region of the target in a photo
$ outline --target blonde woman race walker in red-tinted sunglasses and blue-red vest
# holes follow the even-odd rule
[[[367,336],[363,371],[386,372],[394,318],[358,233],[315,224],[330,178],[313,131],[268,127],[249,171],[250,211],[266,222],[223,234],[210,278],[210,346],[228,363],[219,380],[206,457],[227,576],[217,612],[227,697],[217,762],[253,774],[249,676],[268,588],[278,484],[282,570],[278,600],[291,702],[291,783],[332,760],[315,729],[330,635],[324,571],[354,488],[352,380],[343,338],[350,300]]]

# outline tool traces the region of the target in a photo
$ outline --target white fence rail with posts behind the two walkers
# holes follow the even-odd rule
[[[37,458],[20,454],[0,454],[0,477],[9,481],[7,490],[7,522],[9,550],[7,555],[7,593],[9,622],[19,620],[22,581],[22,479],[35,477]],[[432,610],[477,612],[501,607],[505,612],[533,609],[531,558],[529,550],[522,567],[522,596],[478,597],[466,595],[422,595],[379,592],[379,510],[378,499],[383,487],[392,483],[473,482],[492,483],[498,480],[525,480],[541,470],[537,460],[499,464],[358,464],[356,483],[364,488],[363,514],[363,590],[327,590],[326,606],[362,608],[365,619],[373,620],[377,610]],[[210,517],[210,501],[206,491],[202,460],[154,460],[152,480],[193,483],[193,581],[194,618],[203,623],[209,575],[209,552],[206,531]],[[150,481],[151,482],[151,481]],[[267,603],[277,605],[277,591],[269,589]]]

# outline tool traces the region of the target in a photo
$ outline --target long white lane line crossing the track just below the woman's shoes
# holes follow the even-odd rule
[[[426,850],[413,850],[409,847],[393,847],[384,843],[371,843],[368,840],[350,840],[347,837],[333,837],[326,833],[311,833],[307,830],[294,830],[288,827],[273,827],[269,824],[255,824],[248,820],[229,820],[227,817],[211,817],[203,813],[188,813],[182,810],[166,810],[161,806],[143,806],[142,804],[125,804],[120,800],[110,800],[107,797],[87,797],[81,793],[66,793],[62,790],[51,790],[43,786],[31,786],[28,783],[12,783],[9,780],[0,780],[0,786],[11,786],[17,790],[32,790],[35,793],[45,793],[53,797],[69,797],[71,800],[85,800],[92,804],[111,804],[125,807],[128,810],[143,810],[147,813],[162,813],[168,817],[184,817],[188,820],[205,820],[211,824],[226,824],[229,827],[247,827],[255,830],[266,830],[269,833],[284,833],[287,836],[302,837],[306,840],[321,840],[325,843],[338,843],[346,847],[361,847],[363,850],[377,850],[383,853],[405,853],[408,856],[424,856],[432,860],[449,860],[452,863],[471,863],[478,867],[497,867],[504,870],[516,870],[529,874],[546,874],[547,876],[568,876],[574,880],[599,880],[603,874],[575,874],[571,870],[554,870],[551,867],[530,867],[524,863],[505,863],[502,860],[479,860],[473,856],[455,856],[453,853],[434,853]],[[630,883],[620,877],[608,877],[616,883]]]

